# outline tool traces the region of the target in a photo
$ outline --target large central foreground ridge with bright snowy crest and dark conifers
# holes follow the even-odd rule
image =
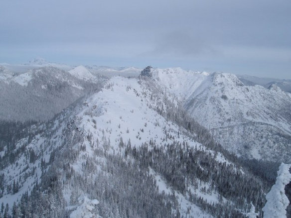
[[[261,182],[154,81],[114,77],[28,129],[0,150],[13,215],[244,217],[264,205]]]

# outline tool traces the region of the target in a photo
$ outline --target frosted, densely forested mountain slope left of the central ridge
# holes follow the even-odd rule
[[[93,76],[90,80],[81,80],[54,67],[14,75],[5,71],[0,73],[0,119],[51,119],[77,99],[99,89],[103,81],[101,77]]]

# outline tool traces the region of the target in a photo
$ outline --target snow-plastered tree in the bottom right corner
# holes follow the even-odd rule
[[[285,195],[285,186],[291,182],[290,168],[291,164],[280,165],[276,183],[267,194],[267,203],[262,209],[264,218],[286,218],[289,199]]]

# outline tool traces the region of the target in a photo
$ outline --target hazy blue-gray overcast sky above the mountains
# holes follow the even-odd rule
[[[34,57],[291,79],[291,0],[2,0],[0,63]]]

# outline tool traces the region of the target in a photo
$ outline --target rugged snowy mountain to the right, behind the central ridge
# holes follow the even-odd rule
[[[230,151],[291,161],[291,95],[273,85],[245,86],[235,75],[152,69],[152,78]]]

